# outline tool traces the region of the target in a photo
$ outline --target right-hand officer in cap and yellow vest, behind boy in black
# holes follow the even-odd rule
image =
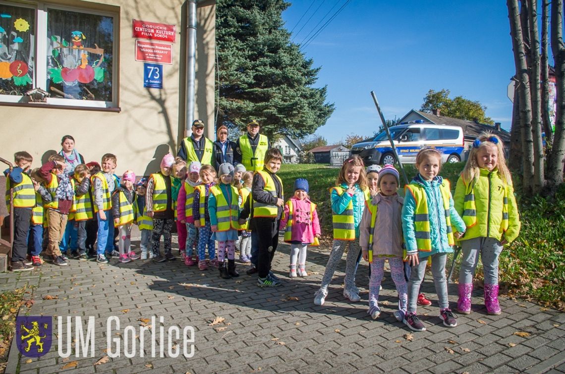
[[[234,163],[243,164],[249,171],[260,171],[264,167],[264,157],[271,148],[269,139],[259,134],[260,125],[253,120],[247,124],[247,133],[240,136],[233,153]]]

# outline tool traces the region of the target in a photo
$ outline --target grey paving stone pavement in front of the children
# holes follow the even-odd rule
[[[133,242],[138,245],[138,242]],[[222,280],[215,268],[199,271],[187,268],[180,258],[166,263],[137,260],[109,264],[69,260],[68,267],[44,264],[28,273],[0,275],[0,292],[36,286],[34,305],[20,315],[53,316],[53,346],[41,358],[21,356],[14,344],[10,349],[7,373],[138,373],[144,371],[190,373],[482,373],[482,372],[565,372],[565,314],[525,301],[501,298],[502,314],[486,314],[480,291],[473,292],[473,312],[458,315],[455,328],[444,327],[438,318],[437,297],[430,277],[423,292],[432,306],[419,307],[427,325],[425,332],[410,332],[394,319],[397,298],[388,272],[385,272],[380,304],[383,314],[373,321],[367,315],[368,268],[359,266],[357,285],[362,301],[350,303],[342,295],[345,258],[332,282],[326,303],[312,303],[318,289],[328,252],[308,250],[305,278],[288,278],[289,246],[281,243],[273,271],[283,280],[277,288],[258,288],[256,276],[247,276],[238,264],[238,279]],[[449,288],[455,309],[457,288]],[[46,295],[58,297],[44,300]],[[63,343],[67,316],[95,321],[94,354],[63,359],[58,354],[58,316],[63,317]],[[107,319],[119,318],[120,328]],[[165,327],[164,341],[157,338],[157,356],[151,355],[150,332],[145,332],[144,357],[140,356],[138,319],[159,316]],[[225,320],[209,325],[217,317]],[[124,329],[131,325],[135,330]],[[194,329],[194,355],[177,358],[167,355],[169,326]],[[75,333],[74,323],[72,333]],[[133,330],[133,328],[129,328]],[[527,332],[520,337],[515,332]],[[411,333],[412,340],[405,334]],[[135,335],[134,335],[135,334]],[[189,336],[190,337],[190,336]],[[107,354],[107,338],[119,342],[122,354],[107,363],[95,363]],[[136,342],[136,354],[124,356],[125,341]],[[181,349],[182,337],[173,336]],[[75,342],[71,345],[74,347]],[[115,344],[112,343],[112,346]],[[160,345],[165,354],[159,356]],[[128,343],[128,350],[133,350]],[[63,344],[63,351],[66,345]],[[182,351],[182,349],[181,349]],[[174,354],[173,350],[173,354]],[[187,349],[187,353],[189,350]],[[76,363],[76,366],[74,365]],[[70,368],[68,368],[70,367]],[[67,369],[68,368],[68,369]]]

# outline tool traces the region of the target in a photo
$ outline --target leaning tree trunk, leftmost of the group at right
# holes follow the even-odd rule
[[[522,37],[522,25],[518,11],[518,0],[506,0],[510,19],[510,36],[514,50],[516,78],[519,85],[520,122],[523,151],[523,192],[531,195],[533,190],[533,144],[532,144],[532,103],[530,101],[528,66]]]

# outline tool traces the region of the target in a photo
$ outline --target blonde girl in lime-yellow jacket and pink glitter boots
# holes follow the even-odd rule
[[[455,209],[467,225],[467,232],[461,238],[463,259],[457,310],[463,314],[471,312],[473,275],[480,255],[486,311],[498,315],[501,313],[498,256],[503,245],[513,241],[520,232],[512,178],[498,136],[483,133],[473,142],[467,164],[457,181],[454,199]]]

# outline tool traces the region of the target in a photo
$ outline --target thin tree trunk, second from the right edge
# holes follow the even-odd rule
[[[549,1],[543,0],[541,8],[541,120],[544,124],[545,141],[551,147],[553,142],[553,129],[549,118],[549,108],[553,103],[549,102],[549,67],[547,66],[548,43],[549,43]]]

